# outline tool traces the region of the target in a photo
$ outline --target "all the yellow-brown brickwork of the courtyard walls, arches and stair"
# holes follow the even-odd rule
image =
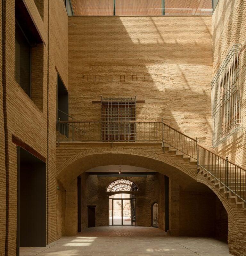
[[[96,203],[90,201],[92,193],[86,188],[94,184],[94,180],[88,183],[85,171],[120,163],[160,172],[154,181],[150,181],[156,185],[158,193],[154,191],[151,200],[142,195],[146,196],[144,200],[149,200],[145,204],[148,209],[156,200],[164,206],[163,176],[169,176],[171,235],[192,235],[192,231],[194,235],[201,235],[198,229],[189,229],[192,223],[187,216],[195,219],[196,214],[199,215],[196,227],[201,224],[209,235],[210,227],[216,223],[216,228],[220,227],[218,233],[225,234],[225,218],[209,219],[206,212],[215,208],[214,216],[221,212],[225,216],[226,210],[230,252],[246,255],[246,211],[228,199],[210,179],[197,174],[195,162],[168,151],[167,145],[164,152],[160,143],[115,143],[113,147],[109,143],[60,143],[58,146],[55,126],[58,72],[69,89],[69,113],[76,121],[101,120],[100,104],[92,104],[92,101],[100,101],[101,95],[136,95],[137,100],[145,101],[137,103],[137,120],[160,121],[163,118],[168,125],[198,137],[201,145],[211,148],[210,82],[231,46],[246,42],[245,1],[219,0],[212,17],[68,17],[63,0],[24,0],[44,40],[43,45],[33,49],[38,51],[37,65],[32,63],[36,67],[33,86],[41,91],[33,91],[31,99],[14,78],[14,2],[4,1],[4,54],[0,55],[4,63],[3,69],[0,67],[0,81],[2,75],[4,78],[0,87],[0,252],[6,252],[8,256],[16,253],[17,155],[16,145],[12,143],[14,135],[46,159],[47,243],[77,232],[77,176],[81,175],[82,192],[88,194],[82,202],[81,227],[84,229],[87,227],[86,204]],[[0,47],[1,44],[2,38]],[[245,50],[241,60],[244,86]],[[245,93],[241,96],[245,119]],[[237,133],[215,151],[222,156],[229,155],[231,161],[246,167],[244,132]],[[221,212],[217,207],[222,209]],[[207,210],[201,211],[201,208]],[[150,211],[146,214],[149,223]],[[107,216],[97,219],[98,225],[106,225]],[[159,211],[159,216],[163,229],[164,211]],[[143,219],[139,218],[143,224]]]

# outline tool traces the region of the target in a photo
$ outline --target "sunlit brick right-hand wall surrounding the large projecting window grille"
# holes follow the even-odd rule
[[[213,71],[217,72],[226,54],[234,44],[246,43],[246,17],[244,10],[246,2],[240,0],[220,0],[212,16],[212,35],[213,35]],[[242,120],[246,119],[245,108],[245,84],[246,84],[246,50],[240,55],[241,62],[241,109]],[[245,134],[238,131],[233,136],[226,139],[215,151],[222,156],[229,156],[229,160],[242,167],[246,167],[246,147]]]

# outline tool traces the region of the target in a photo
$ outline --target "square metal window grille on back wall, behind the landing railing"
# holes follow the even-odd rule
[[[134,141],[136,96],[102,98],[102,141]]]

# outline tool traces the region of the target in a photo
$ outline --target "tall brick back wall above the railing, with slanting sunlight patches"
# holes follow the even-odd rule
[[[69,17],[70,114],[101,120],[100,95],[137,96],[161,120],[211,144],[211,17]],[[199,122],[198,122],[199,120]]]

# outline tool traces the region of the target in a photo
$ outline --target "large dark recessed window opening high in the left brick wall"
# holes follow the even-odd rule
[[[22,0],[15,0],[15,80],[43,111],[44,45]]]

